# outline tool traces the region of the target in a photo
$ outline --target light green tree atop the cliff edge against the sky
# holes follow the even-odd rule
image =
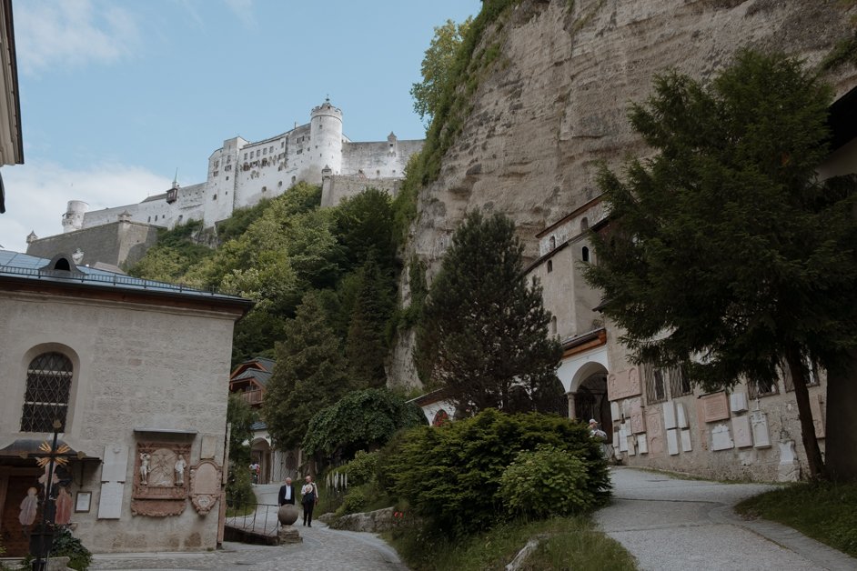
[[[469,17],[461,24],[447,20],[444,25],[435,27],[435,35],[431,38],[429,49],[423,57],[419,73],[422,81],[410,88],[414,98],[414,111],[420,119],[431,118],[438,111],[441,98],[448,90],[449,83],[454,79],[450,74],[456,54],[467,33],[473,18]]]

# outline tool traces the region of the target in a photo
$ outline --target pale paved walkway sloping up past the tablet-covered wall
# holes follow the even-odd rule
[[[732,506],[774,486],[681,480],[624,467],[611,474],[614,499],[596,521],[642,571],[857,569],[857,559],[790,527],[734,515]]]

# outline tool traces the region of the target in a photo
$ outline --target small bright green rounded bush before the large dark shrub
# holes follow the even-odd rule
[[[519,452],[503,476],[499,493],[512,515],[568,516],[592,505],[586,466],[575,454],[539,445]]]

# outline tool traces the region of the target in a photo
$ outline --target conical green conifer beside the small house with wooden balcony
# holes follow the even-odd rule
[[[338,339],[314,292],[304,296],[285,333],[262,403],[268,432],[281,450],[300,446],[310,418],[348,392]]]

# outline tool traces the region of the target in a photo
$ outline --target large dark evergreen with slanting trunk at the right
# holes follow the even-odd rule
[[[630,122],[657,150],[600,172],[609,236],[587,279],[638,362],[708,388],[791,370],[812,476],[824,465],[807,364],[857,346],[855,185],[817,180],[831,89],[784,55],[742,51],[704,86],[657,76]]]

